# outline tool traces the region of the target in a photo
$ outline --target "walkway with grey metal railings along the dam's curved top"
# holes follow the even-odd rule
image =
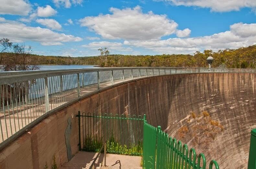
[[[47,115],[125,81],[186,73],[256,73],[255,69],[117,67],[0,72],[0,149]]]

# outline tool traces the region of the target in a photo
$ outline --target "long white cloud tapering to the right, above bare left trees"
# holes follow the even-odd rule
[[[39,26],[31,27],[20,22],[9,20],[0,24],[0,37],[6,37],[15,42],[22,42],[25,40],[40,43],[82,41],[82,38],[80,37],[59,34],[50,29],[41,28]]]

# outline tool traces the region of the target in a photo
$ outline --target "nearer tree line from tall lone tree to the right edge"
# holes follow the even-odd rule
[[[194,55],[110,55],[108,50],[105,50],[106,54],[104,50],[99,51],[98,57],[85,59],[100,67],[207,67],[206,58],[212,56],[212,67],[222,65],[227,68],[256,68],[256,45],[218,52],[204,50],[195,52]]]

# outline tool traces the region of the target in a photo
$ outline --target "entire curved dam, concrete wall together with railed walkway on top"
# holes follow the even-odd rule
[[[58,166],[68,162],[65,131],[72,126],[74,155],[78,111],[146,114],[149,124],[196,147],[220,168],[247,168],[250,131],[256,128],[255,73],[150,67],[0,73],[0,168],[43,168],[53,155]],[[223,126],[210,150],[179,133],[192,127],[191,114],[204,111]]]

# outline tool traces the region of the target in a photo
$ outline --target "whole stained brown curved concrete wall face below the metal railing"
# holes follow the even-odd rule
[[[134,80],[91,95],[52,114],[0,152],[0,168],[43,168],[45,161],[67,162],[65,129],[72,118],[72,154],[78,151],[77,118],[82,112],[146,114],[152,125],[161,125],[172,137],[193,111],[206,110],[224,131],[215,140],[215,158],[221,168],[245,168],[250,130],[256,127],[256,74],[183,74]],[[183,139],[193,147],[191,139]],[[197,149],[197,153],[201,150]],[[203,152],[204,153],[204,152]],[[13,163],[15,161],[15,163]]]

